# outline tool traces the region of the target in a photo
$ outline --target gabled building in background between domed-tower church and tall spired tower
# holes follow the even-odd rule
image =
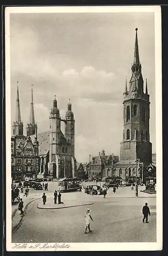
[[[114,163],[118,162],[118,156],[105,154],[105,151],[99,152],[99,156],[92,157],[90,164],[87,164],[88,177],[90,179],[112,176]]]

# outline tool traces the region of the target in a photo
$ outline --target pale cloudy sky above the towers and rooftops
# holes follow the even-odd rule
[[[54,95],[61,117],[70,98],[75,115],[75,154],[119,155],[123,92],[131,78],[135,28],[143,80],[150,94],[150,139],[155,152],[154,13],[10,14],[11,121],[19,82],[21,119],[30,116],[31,84],[38,132],[49,130]],[[64,132],[64,127],[62,125]]]

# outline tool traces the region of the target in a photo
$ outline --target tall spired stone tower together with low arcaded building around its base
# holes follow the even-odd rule
[[[150,96],[146,79],[143,91],[141,63],[139,61],[137,29],[135,36],[134,60],[131,66],[129,86],[127,80],[123,101],[124,130],[120,149],[120,161],[113,166],[115,176],[122,177],[123,183],[135,177],[145,180],[147,166],[152,163],[152,143],[150,142]]]

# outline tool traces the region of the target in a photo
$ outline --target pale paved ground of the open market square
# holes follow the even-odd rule
[[[48,197],[53,196],[56,186],[53,183],[46,191]],[[130,187],[119,187],[114,195],[109,189],[106,199],[79,191],[62,193],[62,201],[80,197],[81,201],[93,202],[89,208],[94,222],[91,222],[92,233],[88,234],[84,233],[88,206],[38,209],[39,200],[36,200],[29,204],[22,225],[12,234],[12,242],[156,242],[156,198],[117,198],[117,194],[121,197],[128,191],[130,193]],[[152,214],[149,223],[143,224],[141,209],[146,202]]]

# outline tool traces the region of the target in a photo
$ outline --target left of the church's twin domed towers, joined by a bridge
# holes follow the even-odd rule
[[[57,108],[56,95],[53,100],[53,109],[50,113],[50,154],[49,154],[49,172],[50,175],[56,177],[56,155],[60,153],[60,137],[61,137],[61,118],[60,112]],[[57,164],[58,167],[58,164]],[[59,170],[60,172],[60,170]],[[58,176],[58,175],[57,175]]]

